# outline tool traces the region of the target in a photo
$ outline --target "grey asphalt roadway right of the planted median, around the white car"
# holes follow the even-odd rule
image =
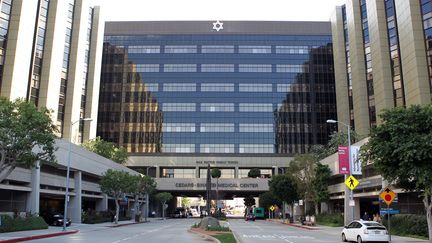
[[[321,227],[320,230],[306,230],[276,222],[243,219],[229,220],[230,228],[240,238],[239,243],[337,243],[341,241],[341,228]],[[392,243],[425,243],[423,240],[392,237]]]

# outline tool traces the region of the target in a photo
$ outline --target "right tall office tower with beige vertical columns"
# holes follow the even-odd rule
[[[347,0],[336,8],[340,121],[366,135],[383,109],[431,102],[431,13],[430,0]]]

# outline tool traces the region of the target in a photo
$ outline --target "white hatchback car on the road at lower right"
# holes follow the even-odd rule
[[[362,242],[389,242],[389,233],[386,227],[375,221],[354,220],[344,227],[341,233],[342,241]]]

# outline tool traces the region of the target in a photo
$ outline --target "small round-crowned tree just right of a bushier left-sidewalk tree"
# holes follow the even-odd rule
[[[131,179],[130,191],[135,199],[134,208],[136,214],[139,214],[142,205],[142,201],[140,202],[140,198],[145,198],[147,194],[152,193],[155,189],[156,182],[152,177],[141,175],[133,176],[133,178]]]

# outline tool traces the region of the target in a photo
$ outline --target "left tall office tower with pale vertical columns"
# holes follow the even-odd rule
[[[0,95],[51,109],[63,138],[94,138],[104,27],[100,8],[87,0],[2,0],[0,5]],[[78,123],[84,117],[94,122]]]

